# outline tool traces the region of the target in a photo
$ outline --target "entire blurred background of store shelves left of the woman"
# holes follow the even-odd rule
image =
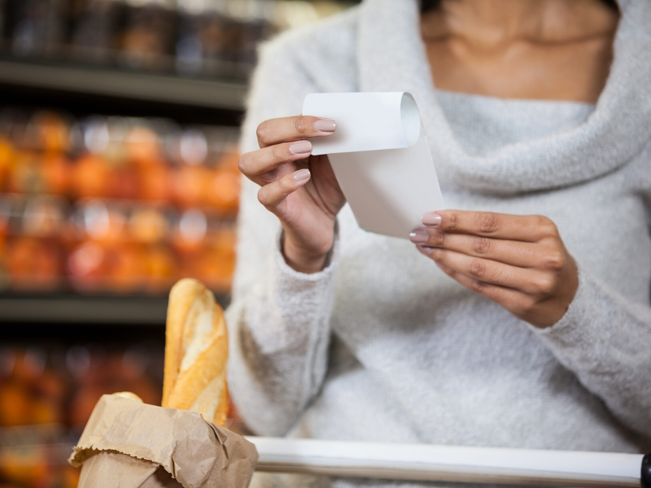
[[[337,0],[0,0],[0,487],[75,487],[100,395],[158,404],[167,293],[229,302],[256,46]]]

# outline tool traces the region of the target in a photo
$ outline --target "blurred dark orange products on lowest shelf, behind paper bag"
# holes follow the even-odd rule
[[[0,483],[76,487],[66,459],[105,392],[160,401],[163,355],[156,341],[0,350]]]

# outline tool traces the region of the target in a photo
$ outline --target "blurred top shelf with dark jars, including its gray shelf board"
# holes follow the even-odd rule
[[[0,85],[240,110],[261,40],[354,3],[0,0]]]

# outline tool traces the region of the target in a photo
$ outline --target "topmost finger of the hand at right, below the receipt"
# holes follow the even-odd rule
[[[542,215],[437,210],[436,212],[424,214],[422,223],[432,225],[443,231],[526,242],[537,242],[542,238],[558,235],[554,223]]]

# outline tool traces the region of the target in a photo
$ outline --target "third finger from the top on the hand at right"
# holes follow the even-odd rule
[[[492,259],[472,257],[456,251],[421,247],[421,252],[429,255],[437,264],[484,283],[512,288],[536,296],[551,293],[555,286],[553,276],[546,272],[506,265]]]

